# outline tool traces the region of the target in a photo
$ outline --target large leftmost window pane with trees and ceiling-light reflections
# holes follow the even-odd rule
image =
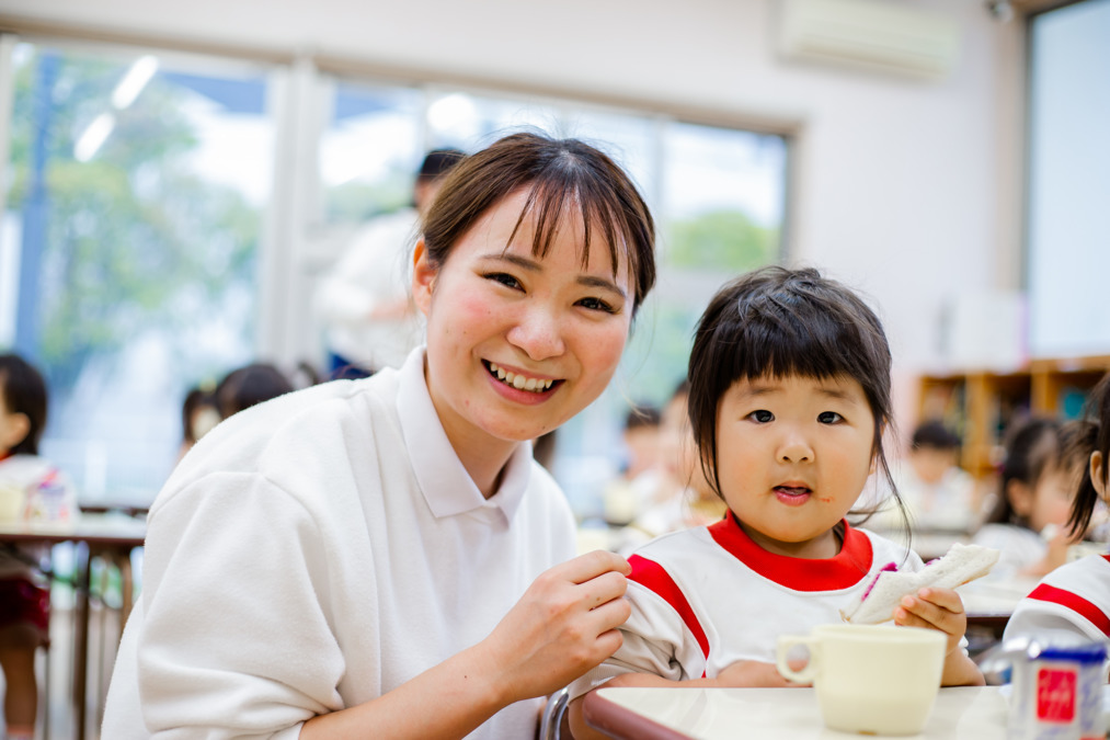
[[[185,390],[251,359],[272,127],[258,70],[20,44],[3,251],[43,454],[84,501],[145,503]],[[213,71],[216,70],[216,71]]]

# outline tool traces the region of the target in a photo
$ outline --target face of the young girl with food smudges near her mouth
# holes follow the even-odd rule
[[[769,552],[831,558],[871,471],[875,416],[856,380],[738,380],[717,407],[720,492]]]

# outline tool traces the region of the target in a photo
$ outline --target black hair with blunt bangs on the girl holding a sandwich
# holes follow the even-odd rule
[[[767,376],[857,381],[875,417],[871,454],[902,508],[882,449],[891,423],[890,347],[864,301],[817,270],[783,267],[733,280],[709,301],[694,333],[688,403],[702,469],[718,496],[717,406],[737,380]]]

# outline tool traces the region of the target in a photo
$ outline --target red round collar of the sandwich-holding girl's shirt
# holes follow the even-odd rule
[[[736,514],[708,527],[713,539],[764,578],[795,591],[839,591],[859,583],[871,570],[871,540],[844,522],[844,546],[836,557],[809,560],[767,552],[751,541]]]

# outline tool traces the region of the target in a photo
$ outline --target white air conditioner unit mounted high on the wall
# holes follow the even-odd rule
[[[959,54],[959,24],[904,0],[783,0],[784,59],[939,80]]]

